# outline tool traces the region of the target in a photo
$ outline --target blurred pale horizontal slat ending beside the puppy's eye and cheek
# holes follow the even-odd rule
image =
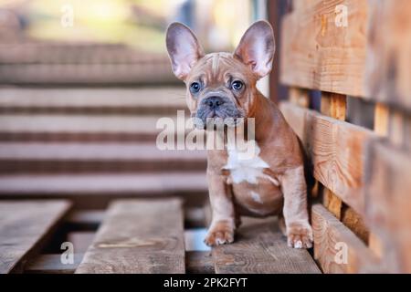
[[[183,87],[162,88],[4,88],[2,113],[175,114],[184,110]]]

